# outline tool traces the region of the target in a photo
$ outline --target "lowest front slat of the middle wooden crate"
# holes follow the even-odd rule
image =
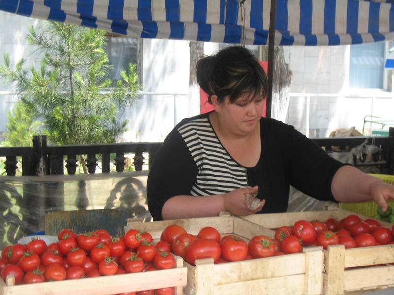
[[[254,281],[238,282],[214,287],[215,295],[240,295],[240,294],[264,294],[264,295],[304,295],[304,274],[293,276],[260,279]]]

